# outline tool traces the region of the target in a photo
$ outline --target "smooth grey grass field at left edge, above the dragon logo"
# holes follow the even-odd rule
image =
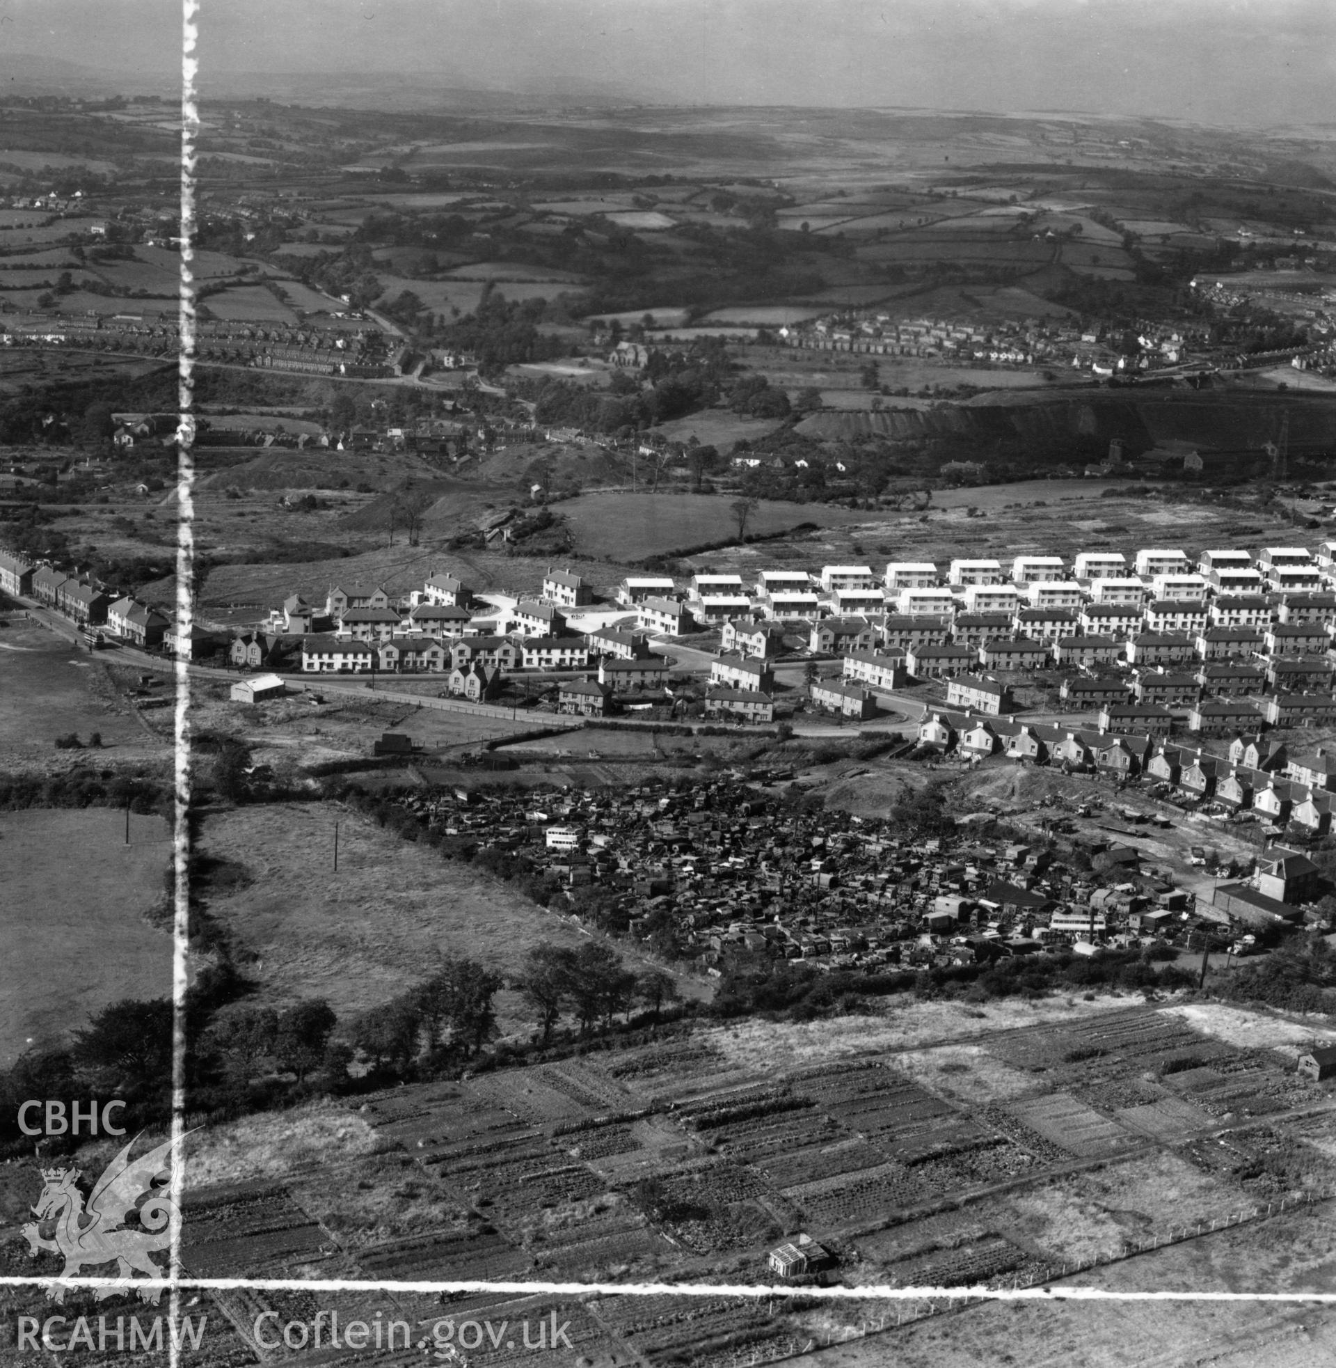
[[[0,1067],[64,1040],[122,997],[171,993],[172,941],[144,914],[163,892],[167,824],[105,807],[0,813]]]

